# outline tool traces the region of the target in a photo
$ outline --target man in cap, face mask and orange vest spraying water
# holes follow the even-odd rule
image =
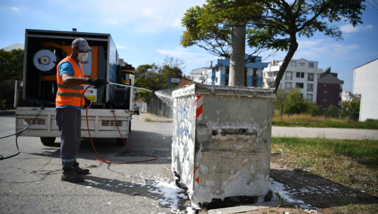
[[[89,174],[89,169],[82,169],[76,161],[81,138],[81,108],[89,100],[83,99],[84,85],[95,88],[107,84],[105,79],[84,77],[81,62],[92,51],[83,38],[72,42],[72,53],[57,65],[56,123],[60,131],[60,156],[62,158],[61,180],[69,182],[84,181],[82,175]]]

